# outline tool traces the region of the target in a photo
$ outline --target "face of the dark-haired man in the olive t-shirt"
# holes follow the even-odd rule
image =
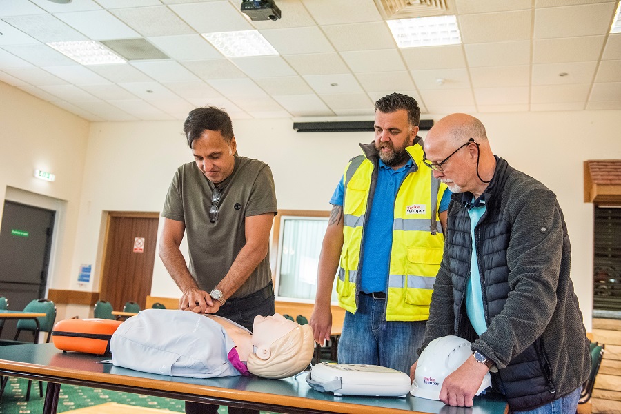
[[[204,130],[192,142],[192,155],[197,167],[213,184],[220,184],[235,168],[235,137],[230,143],[219,131]]]

